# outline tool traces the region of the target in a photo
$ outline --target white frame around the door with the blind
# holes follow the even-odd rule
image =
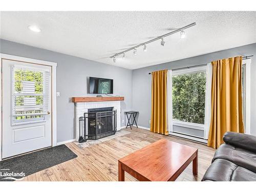
[[[45,65],[52,67],[52,146],[57,145],[57,103],[56,103],[56,68],[57,63],[56,62],[50,62],[50,61],[44,61],[44,60],[37,60],[37,59],[31,59],[27,57],[19,57],[14,55],[8,55],[0,53],[1,55],[1,73],[0,73],[0,161],[2,160],[2,60],[8,59],[8,60],[14,60],[14,61],[21,61],[21,62],[27,62],[31,64],[37,64],[37,65]]]

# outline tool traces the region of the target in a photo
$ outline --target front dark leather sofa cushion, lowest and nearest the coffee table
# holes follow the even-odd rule
[[[216,159],[202,181],[256,181],[256,173],[225,159]]]

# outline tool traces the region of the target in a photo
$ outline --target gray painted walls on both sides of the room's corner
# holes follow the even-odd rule
[[[251,63],[251,132],[256,135],[256,44],[219,52],[162,63],[160,65],[128,70],[100,62],[87,60],[71,55],[61,54],[45,49],[17,44],[0,39],[0,52],[5,54],[29,57],[57,62],[57,142],[75,138],[75,107],[71,101],[74,96],[86,96],[87,77],[105,77],[114,79],[114,95],[124,96],[121,101],[121,126],[124,124],[123,111],[139,111],[138,124],[149,127],[151,118],[151,77],[148,72],[175,69],[207,63],[212,60],[237,55],[254,55]]]

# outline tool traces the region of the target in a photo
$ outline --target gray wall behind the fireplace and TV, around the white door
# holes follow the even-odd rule
[[[57,142],[75,138],[75,96],[86,96],[87,77],[114,79],[114,95],[124,96],[121,101],[121,126],[123,111],[132,106],[132,70],[106,65],[71,55],[39,49],[1,39],[0,52],[57,62]]]

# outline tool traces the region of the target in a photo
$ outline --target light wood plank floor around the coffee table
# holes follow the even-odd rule
[[[118,181],[118,159],[161,138],[199,149],[198,175],[193,175],[190,163],[176,181],[201,181],[215,153],[214,149],[197,142],[154,134],[137,127],[125,130],[131,133],[90,147],[79,148],[73,142],[67,143],[77,158],[29,175],[23,181]],[[125,181],[136,179],[125,173]]]

